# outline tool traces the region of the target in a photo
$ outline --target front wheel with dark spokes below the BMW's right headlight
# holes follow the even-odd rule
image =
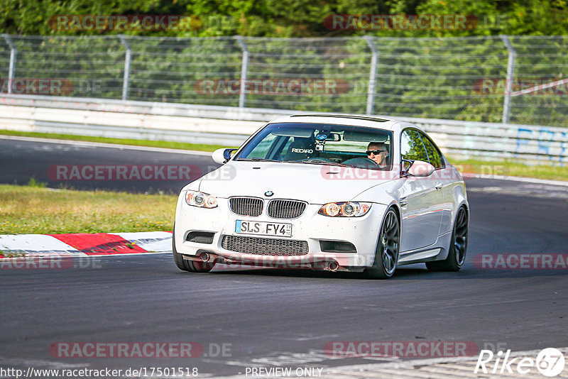
[[[373,266],[366,268],[368,278],[389,279],[395,273],[400,247],[400,221],[393,208],[386,212],[378,235]]]

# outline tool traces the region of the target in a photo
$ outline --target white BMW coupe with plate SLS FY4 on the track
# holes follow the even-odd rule
[[[222,166],[180,192],[173,257],[181,270],[222,263],[385,279],[410,263],[464,264],[464,180],[412,123],[283,116],[213,160]]]

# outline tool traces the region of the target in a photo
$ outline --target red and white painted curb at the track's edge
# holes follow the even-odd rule
[[[108,256],[172,251],[172,233],[7,234],[0,235],[0,258]]]

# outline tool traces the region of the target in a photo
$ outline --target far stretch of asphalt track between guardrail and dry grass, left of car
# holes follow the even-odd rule
[[[187,177],[197,179],[204,173],[219,167],[211,156],[187,155],[186,153],[160,152],[161,149],[131,150],[127,148],[102,148],[91,144],[67,143],[38,143],[20,139],[5,139],[0,136],[0,183],[26,185],[31,177],[45,182],[49,187],[66,187],[70,189],[108,189],[127,192],[166,192],[178,194],[187,184],[187,180],[175,180],[180,175],[167,176],[168,166],[189,166]],[[167,151],[169,149],[163,149]],[[58,168],[75,165],[89,167],[85,176],[80,180],[71,175],[69,168],[64,175],[59,175]],[[94,167],[126,166],[130,176],[132,165],[149,165],[163,167],[163,176],[158,180],[89,180],[89,174],[94,173]],[[67,179],[65,179],[67,177]],[[72,178],[72,180],[69,180]],[[136,177],[133,177],[136,179]]]

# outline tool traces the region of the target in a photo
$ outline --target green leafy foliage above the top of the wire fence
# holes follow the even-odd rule
[[[417,37],[457,35],[564,35],[568,31],[566,0],[0,0],[2,33],[23,35],[113,34],[120,31],[58,31],[48,24],[54,15],[187,15],[200,28],[187,31],[126,31],[131,35],[179,37],[246,35],[322,37],[373,35]],[[329,30],[332,14],[472,15],[476,27],[463,30]]]

